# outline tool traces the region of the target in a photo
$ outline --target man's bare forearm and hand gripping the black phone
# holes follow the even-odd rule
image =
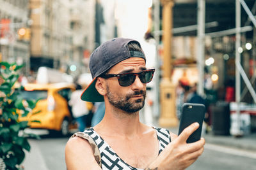
[[[181,170],[193,164],[204,152],[205,140],[201,138],[195,143],[186,143],[186,141],[198,127],[198,124],[189,125],[178,137],[175,134],[171,134],[172,142],[164,148],[163,152],[147,169]]]

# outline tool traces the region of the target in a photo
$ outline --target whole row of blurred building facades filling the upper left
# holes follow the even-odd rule
[[[27,75],[40,66],[88,72],[88,57],[95,48],[95,3],[1,0],[1,60],[26,64]]]

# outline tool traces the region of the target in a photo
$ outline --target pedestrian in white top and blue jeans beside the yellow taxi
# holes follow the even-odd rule
[[[86,128],[86,115],[89,114],[86,102],[80,99],[82,93],[81,85],[76,84],[76,90],[72,92],[70,101],[68,101],[68,104],[72,107],[72,115],[76,118],[79,132],[83,132]]]

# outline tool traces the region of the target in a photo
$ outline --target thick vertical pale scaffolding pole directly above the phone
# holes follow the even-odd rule
[[[197,57],[197,67],[198,67],[198,94],[204,95],[204,37],[205,37],[205,0],[198,0],[198,57]]]

